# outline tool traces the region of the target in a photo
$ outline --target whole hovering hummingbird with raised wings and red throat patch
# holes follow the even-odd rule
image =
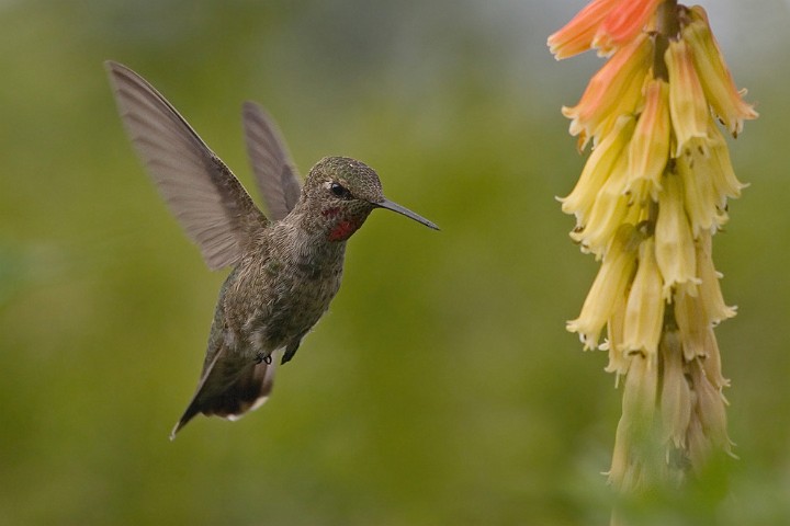
[[[129,68],[105,66],[121,119],[170,211],[211,270],[233,267],[173,439],[199,413],[233,421],[267,400],[278,361],[294,357],[337,294],[346,242],[371,211],[439,227],[384,197],[376,172],[356,159],[326,157],[301,185],[276,125],[246,102],[247,150],[267,217],[165,96]]]

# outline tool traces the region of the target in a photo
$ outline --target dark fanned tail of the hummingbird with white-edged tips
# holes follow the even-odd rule
[[[256,363],[246,357],[228,357],[226,347],[217,352],[203,373],[194,397],[170,434],[176,438],[181,427],[198,413],[238,420],[267,401],[274,382],[276,362]]]

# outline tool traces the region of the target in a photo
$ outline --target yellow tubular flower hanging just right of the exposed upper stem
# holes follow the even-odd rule
[[[708,137],[710,111],[688,45],[684,41],[669,42],[664,60],[669,70],[669,114],[678,157],[690,139]]]

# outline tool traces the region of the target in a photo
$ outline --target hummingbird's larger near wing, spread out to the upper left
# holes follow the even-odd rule
[[[117,62],[105,66],[126,132],[170,210],[210,268],[233,265],[266,216],[153,85]]]

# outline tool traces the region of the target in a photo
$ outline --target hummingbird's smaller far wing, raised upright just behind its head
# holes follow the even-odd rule
[[[247,153],[269,216],[280,220],[296,206],[300,188],[298,175],[287,147],[274,121],[255,102],[245,102],[245,138]]]

